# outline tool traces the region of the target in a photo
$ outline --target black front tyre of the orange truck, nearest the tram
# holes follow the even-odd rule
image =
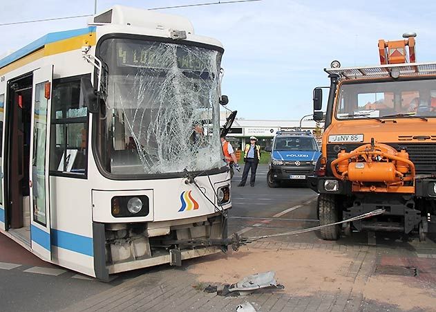
[[[333,194],[319,194],[318,196],[319,225],[335,223],[339,221],[339,211]],[[339,224],[321,228],[321,238],[326,241],[337,241],[341,233]]]

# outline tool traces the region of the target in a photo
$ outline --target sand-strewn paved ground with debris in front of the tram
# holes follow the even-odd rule
[[[397,253],[334,242],[256,243],[237,253],[184,261],[181,268],[160,266],[65,311],[221,312],[236,311],[244,302],[256,311],[436,311],[436,258],[414,250]],[[410,266],[418,276],[404,276]],[[263,270],[274,270],[285,289],[244,297],[202,291]]]

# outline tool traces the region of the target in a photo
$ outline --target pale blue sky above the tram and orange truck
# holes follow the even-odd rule
[[[97,0],[97,12],[122,4],[161,8],[216,0]],[[93,14],[95,0],[0,0],[0,24]],[[222,42],[222,94],[238,117],[299,120],[312,113],[312,90],[329,84],[323,68],[379,64],[379,39],[417,33],[417,62],[436,61],[436,1],[262,0],[157,12],[191,20],[197,35]],[[0,56],[88,18],[0,26]],[[0,57],[2,58],[2,57]],[[326,98],[326,97],[325,97]]]

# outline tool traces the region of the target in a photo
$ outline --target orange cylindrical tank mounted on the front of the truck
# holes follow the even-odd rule
[[[350,163],[348,179],[355,182],[397,182],[393,163]]]

